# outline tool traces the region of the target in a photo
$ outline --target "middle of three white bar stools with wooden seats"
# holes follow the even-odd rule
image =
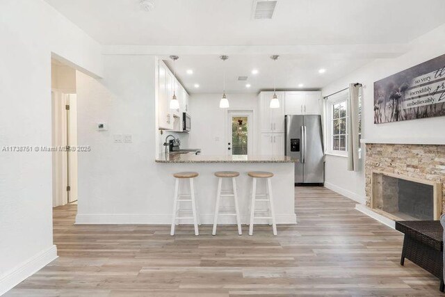
[[[216,234],[216,225],[218,223],[218,216],[236,216],[236,224],[238,225],[238,234],[241,235],[241,221],[239,219],[239,209],[238,209],[238,193],[236,192],[236,179],[239,175],[239,172],[236,171],[218,171],[215,172],[215,176],[219,177],[218,179],[218,193],[216,194],[216,205],[215,205],[215,214],[213,218],[213,231],[211,232],[212,235]],[[221,185],[223,184],[224,178],[232,178],[232,188],[233,191],[227,190],[223,191],[221,190]],[[235,202],[235,213],[229,213],[229,214],[219,214],[220,209],[220,198],[221,197],[233,197]]]

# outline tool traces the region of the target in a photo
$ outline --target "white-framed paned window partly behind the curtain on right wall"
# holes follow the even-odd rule
[[[347,156],[348,154],[348,90],[327,97],[326,140],[327,154]],[[362,139],[362,95],[359,95],[359,148]]]

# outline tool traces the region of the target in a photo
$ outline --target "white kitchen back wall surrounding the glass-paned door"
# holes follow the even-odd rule
[[[221,93],[193,94],[189,99],[188,106],[192,128],[188,136],[188,145],[191,148],[200,148],[202,150],[201,154],[226,154],[227,109],[219,108],[221,96]],[[252,130],[252,135],[255,143],[257,141],[257,94],[227,94],[227,99],[229,99],[230,111],[253,111],[254,130]],[[219,138],[219,141],[216,140],[217,138]]]

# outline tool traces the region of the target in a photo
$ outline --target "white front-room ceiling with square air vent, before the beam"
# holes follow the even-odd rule
[[[46,0],[104,45],[301,45],[408,42],[444,22],[444,0]]]

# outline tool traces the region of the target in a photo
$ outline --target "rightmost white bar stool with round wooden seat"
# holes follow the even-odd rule
[[[250,204],[250,225],[249,225],[249,235],[253,234],[253,223],[255,218],[267,218],[272,219],[272,229],[273,234],[277,235],[277,225],[275,224],[275,211],[273,209],[273,196],[272,196],[272,185],[270,183],[270,177],[273,177],[272,172],[262,172],[262,171],[251,171],[248,175],[252,177],[252,202]],[[266,179],[266,193],[257,194],[257,179]],[[264,199],[257,199],[257,196],[266,197]],[[269,202],[269,209],[265,211],[270,211],[270,216],[255,216],[255,202]],[[261,210],[263,211],[263,210]]]

